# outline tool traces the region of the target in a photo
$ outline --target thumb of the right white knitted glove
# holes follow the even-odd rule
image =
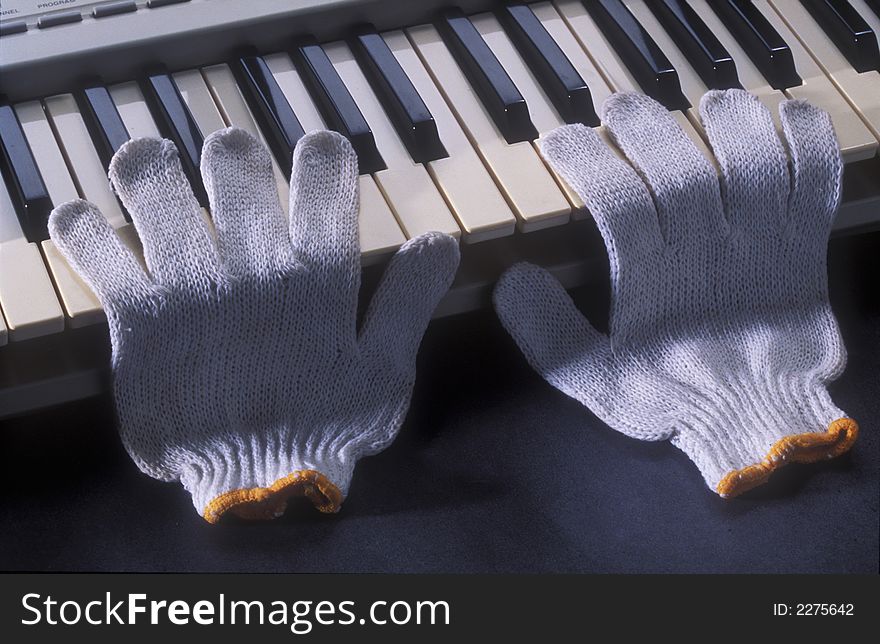
[[[611,364],[608,336],[581,315],[556,278],[520,263],[507,269],[492,294],[495,311],[532,368],[551,385],[594,408]]]

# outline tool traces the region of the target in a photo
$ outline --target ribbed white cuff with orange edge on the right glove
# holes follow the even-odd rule
[[[819,383],[731,382],[689,411],[672,442],[722,497],[761,485],[787,463],[839,456],[858,436],[856,422]]]

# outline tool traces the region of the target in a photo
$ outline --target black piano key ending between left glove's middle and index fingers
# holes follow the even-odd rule
[[[272,154],[285,176],[290,176],[293,149],[305,134],[302,124],[260,56],[242,56],[234,69]]]

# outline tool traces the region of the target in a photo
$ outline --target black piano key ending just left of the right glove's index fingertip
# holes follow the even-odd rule
[[[467,16],[458,9],[448,10],[437,27],[507,142],[537,139],[526,100]]]

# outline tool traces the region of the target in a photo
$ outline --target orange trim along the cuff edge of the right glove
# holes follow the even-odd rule
[[[826,432],[793,434],[779,439],[760,463],[728,472],[718,494],[730,498],[767,482],[770,475],[787,463],[814,463],[840,456],[855,443],[859,425],[852,418],[838,418]]]

